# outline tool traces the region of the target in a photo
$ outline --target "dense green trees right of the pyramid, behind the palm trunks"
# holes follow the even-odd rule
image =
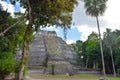
[[[115,30],[113,32],[109,32],[108,30],[110,31],[110,29],[106,29],[106,32],[104,32],[104,37],[102,40],[106,73],[113,73],[112,60],[109,49],[109,46],[112,46],[115,70],[117,73],[120,74],[120,30]],[[96,33],[91,33],[88,36],[88,39],[81,44],[76,41],[76,44],[72,44],[72,47],[79,57],[77,60],[77,64],[80,64],[81,66],[81,63],[85,64],[88,61],[88,68],[93,68],[93,63],[97,62],[98,68],[102,67],[99,49],[99,39]],[[83,56],[83,60],[81,60],[81,55]]]

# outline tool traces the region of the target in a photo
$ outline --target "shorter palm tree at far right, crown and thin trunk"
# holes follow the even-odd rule
[[[104,33],[104,38],[105,38],[105,43],[109,46],[110,49],[110,55],[112,59],[112,67],[113,67],[113,73],[114,77],[116,77],[116,71],[115,71],[115,64],[114,64],[114,59],[113,59],[113,50],[112,46],[114,45],[116,35],[111,32],[111,29],[106,29],[106,32]]]

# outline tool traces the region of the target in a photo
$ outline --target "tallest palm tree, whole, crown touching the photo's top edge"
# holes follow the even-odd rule
[[[84,0],[84,2],[85,2],[84,7],[86,9],[86,14],[95,17],[97,20],[97,27],[98,27],[99,40],[100,40],[100,50],[101,50],[101,57],[102,57],[103,74],[104,74],[104,79],[106,80],[104,55],[103,55],[102,40],[101,40],[98,17],[100,15],[103,15],[103,13],[106,9],[107,0]]]

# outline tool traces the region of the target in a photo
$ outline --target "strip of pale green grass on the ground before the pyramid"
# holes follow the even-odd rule
[[[91,74],[79,74],[74,76],[67,75],[42,75],[42,74],[29,74],[31,78],[43,79],[43,80],[99,80],[101,75],[91,75]],[[120,77],[114,78],[107,76],[107,80],[120,80]]]

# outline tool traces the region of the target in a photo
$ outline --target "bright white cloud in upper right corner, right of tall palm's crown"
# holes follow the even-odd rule
[[[103,19],[112,27],[120,26],[120,0],[108,0],[107,10]]]

